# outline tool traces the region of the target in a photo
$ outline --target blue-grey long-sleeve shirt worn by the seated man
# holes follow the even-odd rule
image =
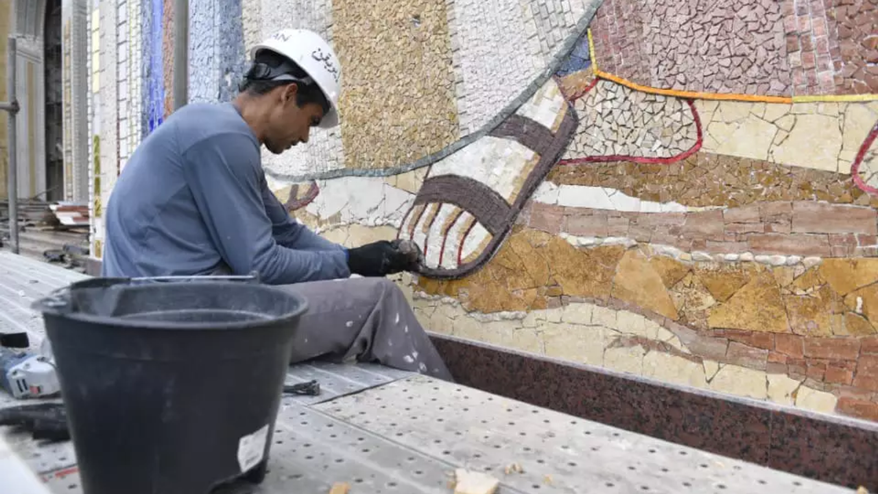
[[[104,276],[258,271],[290,284],[350,275],[347,251],[291,219],[233,105],[191,104],[134,151],[105,207]]]

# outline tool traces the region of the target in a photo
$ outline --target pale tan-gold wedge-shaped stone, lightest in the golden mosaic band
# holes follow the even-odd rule
[[[637,250],[625,252],[619,261],[612,294],[615,298],[635,303],[662,316],[671,319],[678,317],[665,282],[652,269],[649,259]]]

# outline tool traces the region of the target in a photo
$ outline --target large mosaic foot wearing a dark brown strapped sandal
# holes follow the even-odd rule
[[[479,141],[430,167],[400,238],[421,245],[433,278],[459,278],[493,256],[576,128],[558,84]]]

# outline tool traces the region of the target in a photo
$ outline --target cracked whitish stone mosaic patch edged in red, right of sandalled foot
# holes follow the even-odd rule
[[[574,108],[579,128],[563,162],[608,156],[680,158],[701,144],[697,115],[680,98],[601,80],[574,102]]]

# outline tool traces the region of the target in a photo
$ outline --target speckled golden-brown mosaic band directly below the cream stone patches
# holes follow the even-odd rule
[[[558,185],[607,187],[640,200],[690,207],[738,207],[773,200],[878,207],[878,198],[857,188],[850,175],[707,152],[671,164],[561,164],[548,179]]]

